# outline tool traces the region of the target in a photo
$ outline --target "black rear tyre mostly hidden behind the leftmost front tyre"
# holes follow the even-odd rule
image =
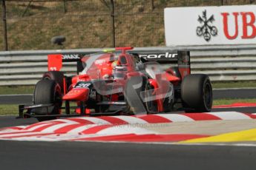
[[[45,74],[42,77],[42,79],[56,81],[56,83],[59,84],[62,92],[64,91],[63,78],[65,78],[63,72],[59,71],[45,72]]]

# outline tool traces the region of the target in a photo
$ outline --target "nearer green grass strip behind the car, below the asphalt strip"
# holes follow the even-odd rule
[[[214,101],[214,106],[226,105],[232,103],[256,103],[255,99],[220,99]],[[75,106],[74,104],[72,106]],[[19,106],[17,104],[0,104],[0,115],[19,115]]]

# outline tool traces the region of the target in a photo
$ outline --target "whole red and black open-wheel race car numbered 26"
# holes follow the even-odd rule
[[[33,105],[20,105],[19,118],[211,111],[211,82],[207,75],[191,74],[189,52],[132,49],[117,47],[70,58],[48,55],[48,72],[35,86]],[[65,75],[62,62],[72,61],[77,75]]]

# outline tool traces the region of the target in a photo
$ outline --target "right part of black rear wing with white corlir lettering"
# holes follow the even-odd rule
[[[180,75],[184,78],[191,73],[189,51],[159,51],[159,52],[130,52],[136,55],[142,62],[154,61],[168,69],[177,66]]]

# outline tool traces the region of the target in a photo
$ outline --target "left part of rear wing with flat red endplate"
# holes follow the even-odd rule
[[[77,74],[82,71],[82,54],[50,54],[47,55],[48,59],[48,71],[60,71],[62,69],[63,62],[76,62]]]

